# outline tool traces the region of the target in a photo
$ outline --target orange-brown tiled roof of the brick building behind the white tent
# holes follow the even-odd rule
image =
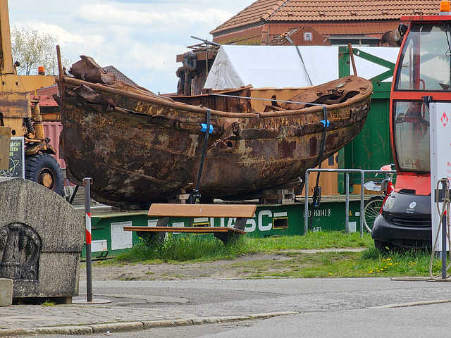
[[[440,0],[258,0],[210,32],[218,35],[268,22],[399,20],[434,15]]]

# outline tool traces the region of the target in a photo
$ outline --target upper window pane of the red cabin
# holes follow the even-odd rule
[[[450,43],[449,23],[412,23],[395,89],[450,90]]]

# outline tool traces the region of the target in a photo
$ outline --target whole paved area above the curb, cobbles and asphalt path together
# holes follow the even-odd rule
[[[39,334],[99,334],[234,320],[254,320],[296,313],[368,309],[384,317],[390,309],[433,312],[450,301],[451,283],[393,281],[390,278],[94,281],[89,305],[13,305],[0,307],[0,337]],[[86,300],[85,281],[80,296]],[[412,309],[412,310],[408,310]],[[416,310],[414,310],[416,309]],[[412,311],[412,312],[411,312]],[[399,325],[388,321],[387,325]],[[356,323],[348,323],[360,325]]]

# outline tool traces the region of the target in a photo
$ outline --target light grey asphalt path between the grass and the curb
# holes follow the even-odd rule
[[[93,282],[93,293],[122,306],[171,308],[195,315],[353,310],[450,297],[451,283],[390,278]],[[80,283],[80,294],[85,285]],[[450,297],[451,299],[451,297]]]

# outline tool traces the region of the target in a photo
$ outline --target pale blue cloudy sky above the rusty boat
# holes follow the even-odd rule
[[[9,0],[11,30],[58,38],[73,63],[92,56],[152,92],[176,91],[177,54],[255,0]]]

